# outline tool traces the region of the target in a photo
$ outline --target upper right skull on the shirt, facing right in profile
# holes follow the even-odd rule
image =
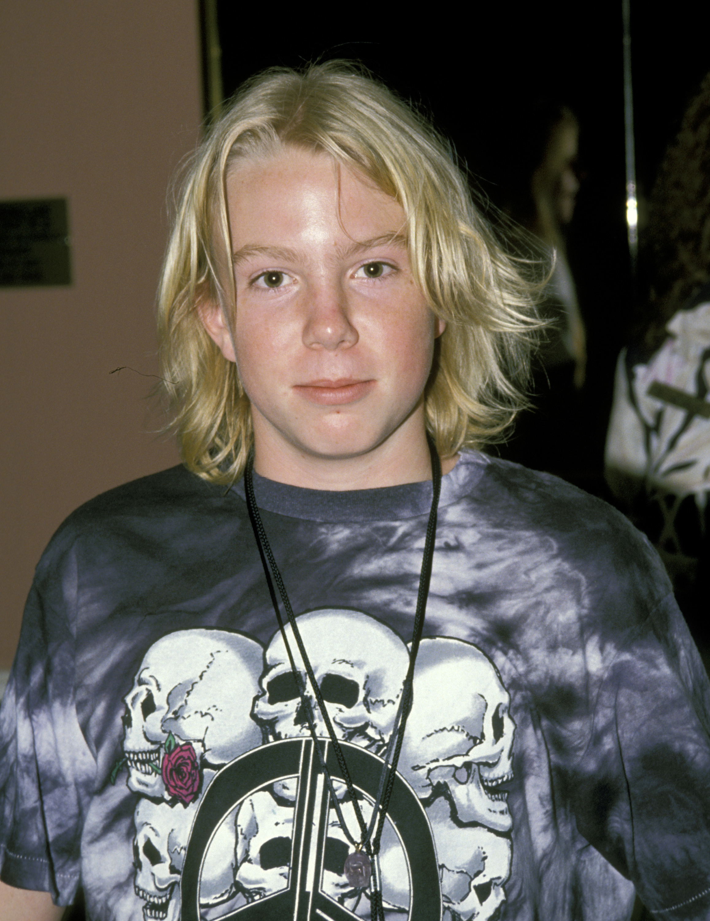
[[[515,723],[493,662],[462,640],[422,640],[399,771],[420,799],[444,793],[457,822],[509,832]]]

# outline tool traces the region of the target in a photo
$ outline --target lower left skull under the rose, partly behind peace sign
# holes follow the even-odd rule
[[[214,772],[205,771],[205,787]],[[145,921],[179,921],[180,874],[198,801],[171,806],[141,798],[135,808],[135,894],[143,900]],[[236,892],[235,832],[232,822],[217,829],[204,858],[200,904],[205,909],[227,902]]]

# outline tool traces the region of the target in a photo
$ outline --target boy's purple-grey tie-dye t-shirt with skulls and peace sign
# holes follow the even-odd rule
[[[254,485],[367,821],[431,484]],[[710,917],[709,701],[645,539],[568,484],[464,454],[382,834],[386,917],[614,921],[634,887],[660,918]],[[94,921],[369,917],[243,484],[177,467],[79,508],[38,566],[0,723],[6,882],[59,904],[81,886]]]

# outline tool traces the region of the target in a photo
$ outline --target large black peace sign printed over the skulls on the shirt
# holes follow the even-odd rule
[[[319,740],[333,780],[343,780],[330,740]],[[382,760],[357,745],[341,742],[355,787],[377,799]],[[200,921],[200,875],[213,834],[235,806],[255,790],[298,777],[291,840],[291,861],[285,889],[241,905],[220,921],[352,921],[356,917],[320,890],[328,832],[330,792],[311,739],[287,739],[263,745],[222,768],[207,787],[197,810],[180,880],[181,921]],[[396,775],[388,818],[402,841],[409,865],[408,921],[440,921],[436,850],[419,799]],[[403,916],[402,916],[403,917]]]

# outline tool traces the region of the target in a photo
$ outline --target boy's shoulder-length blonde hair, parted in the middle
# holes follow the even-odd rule
[[[533,286],[472,204],[446,144],[417,112],[361,68],[272,69],[232,99],[186,169],[158,293],[163,388],[187,467],[214,483],[239,477],[253,441],[234,363],[198,308],[235,309],[225,183],[237,160],[288,147],[330,154],[402,204],[413,276],[436,316],[425,419],[442,457],[500,437],[525,405]]]

